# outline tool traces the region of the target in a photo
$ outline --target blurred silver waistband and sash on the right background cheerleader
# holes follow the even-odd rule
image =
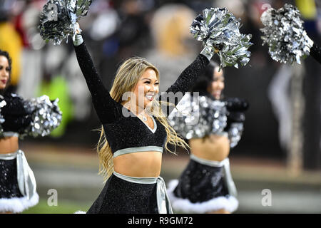
[[[214,160],[206,160],[204,158],[196,157],[195,155],[190,154],[190,159],[195,160],[195,162],[198,162],[202,165],[208,165],[211,167],[223,167],[224,182],[228,187],[228,194],[232,195],[233,197],[237,197],[238,191],[236,190],[235,183],[230,173],[230,160],[228,159],[228,157],[225,158],[225,160],[218,162]]]

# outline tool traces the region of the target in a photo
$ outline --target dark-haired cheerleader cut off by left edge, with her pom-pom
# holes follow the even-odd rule
[[[24,100],[6,92],[11,58],[0,50],[0,213],[19,213],[39,202],[34,173],[19,150],[19,138],[44,136],[58,127],[61,112],[44,95]]]

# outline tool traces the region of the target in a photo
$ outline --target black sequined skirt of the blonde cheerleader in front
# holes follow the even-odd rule
[[[113,173],[108,178],[105,187],[101,191],[87,214],[158,214],[158,183],[138,183],[125,180],[121,175]],[[124,176],[128,177],[128,176]],[[128,177],[131,178],[131,177]],[[139,178],[139,177],[133,177]],[[143,177],[144,178],[144,177]],[[148,178],[148,177],[146,177]],[[157,179],[157,178],[155,178]],[[164,183],[165,190],[165,183]],[[164,201],[165,202],[165,201]],[[163,205],[170,208],[168,200]],[[166,210],[166,209],[165,209]]]

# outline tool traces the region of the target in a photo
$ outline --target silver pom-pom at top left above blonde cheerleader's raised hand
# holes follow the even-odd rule
[[[86,16],[91,0],[48,0],[40,15],[39,31],[45,41],[58,45],[76,36],[77,21]]]

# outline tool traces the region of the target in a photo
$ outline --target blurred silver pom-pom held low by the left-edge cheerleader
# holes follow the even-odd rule
[[[61,123],[62,113],[58,107],[58,99],[51,102],[47,95],[42,95],[26,101],[24,106],[31,113],[31,124],[19,135],[20,138],[26,135],[33,137],[49,135]]]

